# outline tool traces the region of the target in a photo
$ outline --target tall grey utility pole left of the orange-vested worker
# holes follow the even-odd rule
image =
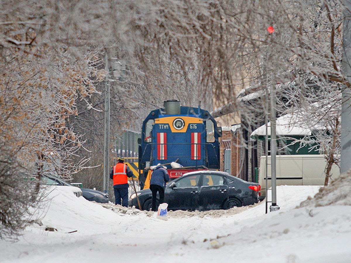
[[[110,70],[108,54],[105,50],[105,132],[104,132],[104,192],[108,192],[108,178],[110,177]]]

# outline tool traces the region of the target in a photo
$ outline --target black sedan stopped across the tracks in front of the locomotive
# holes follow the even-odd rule
[[[241,207],[258,202],[260,186],[221,171],[195,171],[166,185],[165,202],[168,210],[211,210]],[[137,192],[141,209],[151,208],[151,190]],[[139,208],[136,194],[128,205]]]

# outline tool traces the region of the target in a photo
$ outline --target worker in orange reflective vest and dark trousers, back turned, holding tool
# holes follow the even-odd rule
[[[115,204],[121,204],[124,207],[128,206],[128,178],[132,177],[133,172],[124,163],[124,159],[118,158],[117,164],[112,168],[110,178],[113,180],[114,200]]]

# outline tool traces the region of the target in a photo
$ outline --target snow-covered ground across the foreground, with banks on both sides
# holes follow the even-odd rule
[[[262,202],[169,211],[165,221],[57,188],[42,226],[28,227],[18,242],[0,241],[0,262],[351,262],[351,177],[305,201],[318,190],[279,186],[280,210],[267,214]]]

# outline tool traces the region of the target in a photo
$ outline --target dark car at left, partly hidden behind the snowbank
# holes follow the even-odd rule
[[[55,176],[43,176],[41,178],[41,183],[46,185],[57,185],[57,186],[71,186],[72,184],[62,180],[61,178]],[[98,203],[108,203],[108,194],[89,188],[80,188],[83,197],[88,201],[95,201]]]

